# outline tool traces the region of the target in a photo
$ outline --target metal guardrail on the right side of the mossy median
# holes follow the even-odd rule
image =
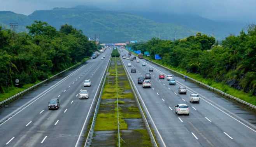
[[[123,66],[125,66],[122,59],[121,59],[121,61],[122,61]],[[125,71],[126,75],[128,75],[128,71],[126,70],[126,68],[124,68],[124,71]],[[146,118],[146,116],[145,116],[145,114],[144,114],[144,112],[143,112],[143,110],[142,110],[141,105],[140,105],[140,101],[139,101],[139,98],[138,98],[138,96],[137,96],[137,93],[135,92],[134,87],[133,87],[133,85],[132,85],[132,82],[131,82],[132,79],[130,79],[129,76],[128,76],[128,80],[129,80],[129,84],[130,84],[130,86],[131,86],[131,88],[132,88],[133,96],[135,97],[135,100],[137,101],[137,105],[138,105],[138,107],[139,107],[140,115],[141,115],[141,117],[142,117],[142,119],[143,119],[143,121],[144,121],[144,124],[145,124],[145,126],[146,126],[147,133],[148,133],[148,135],[149,135],[149,138],[150,138],[150,142],[151,142],[151,144],[152,144],[152,147],[158,147],[157,144],[156,144],[156,140],[155,140],[155,138],[154,138],[154,135],[153,135],[153,133],[152,133],[152,131],[151,131],[151,128],[150,128],[150,126],[149,126],[149,123],[147,122],[147,118]]]

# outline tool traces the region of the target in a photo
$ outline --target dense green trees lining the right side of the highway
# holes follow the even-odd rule
[[[186,69],[187,73],[226,84],[256,95],[256,26],[247,27],[240,35],[230,35],[222,44],[213,37],[196,33],[180,40],[153,38],[144,43],[130,44],[133,50],[148,51],[150,58],[161,56],[162,65]]]

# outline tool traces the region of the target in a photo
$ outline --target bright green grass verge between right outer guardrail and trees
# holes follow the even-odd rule
[[[157,60],[152,60],[158,64],[160,64]],[[219,89],[220,91],[223,91],[224,93],[230,94],[232,96],[235,96],[236,98],[239,98],[240,100],[246,101],[247,103],[251,103],[252,105],[256,105],[256,96],[253,96],[251,93],[245,93],[243,91],[238,91],[237,89],[234,89],[226,84],[223,83],[217,83],[212,79],[205,79],[202,77],[202,75],[194,74],[194,73],[187,73],[185,69],[182,68],[174,68],[168,65],[163,65],[167,68],[170,68],[172,70],[175,70],[176,72],[182,73],[184,75],[187,75],[188,77],[191,77],[195,80],[198,80],[204,84],[207,84],[211,87],[214,87],[216,89]]]

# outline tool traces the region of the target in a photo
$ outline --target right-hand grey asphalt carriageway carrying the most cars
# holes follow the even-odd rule
[[[127,54],[121,52],[121,54]],[[138,59],[138,58],[137,58]],[[145,59],[130,61],[123,59],[124,65],[132,77],[144,103],[148,120],[161,147],[252,147],[256,144],[256,114],[237,103],[202,89],[197,84],[184,80],[170,71],[158,67]],[[142,66],[145,62],[146,66]],[[132,63],[131,67],[127,64]],[[130,69],[135,67],[136,73]],[[154,72],[149,72],[149,67]],[[139,76],[151,73],[151,88],[142,88],[137,84]],[[173,75],[176,85],[168,85],[165,79],[159,79],[159,73]],[[187,94],[178,94],[178,87],[185,86]],[[200,94],[200,103],[190,103],[189,94]],[[189,115],[175,114],[175,105],[189,105]]]

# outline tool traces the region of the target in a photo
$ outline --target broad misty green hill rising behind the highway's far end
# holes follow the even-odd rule
[[[18,23],[18,32],[26,31],[25,26],[30,26],[34,20],[46,22],[57,30],[61,25],[72,25],[74,28],[82,30],[87,37],[99,36],[101,43],[131,40],[140,42],[150,40],[153,37],[166,40],[183,39],[195,35],[196,32],[211,36],[212,26],[221,27],[221,24],[217,26],[216,22],[207,22],[209,20],[204,18],[198,20],[193,17],[178,15],[130,14],[81,5],[74,8],[36,10],[29,16],[9,11],[0,12],[1,25],[8,28],[9,23]],[[212,25],[209,26],[208,24]],[[223,30],[227,29],[223,27]],[[242,29],[239,28],[237,32],[240,30]],[[223,39],[228,35],[228,33],[220,31],[220,33],[216,32],[214,36],[216,39]]]

